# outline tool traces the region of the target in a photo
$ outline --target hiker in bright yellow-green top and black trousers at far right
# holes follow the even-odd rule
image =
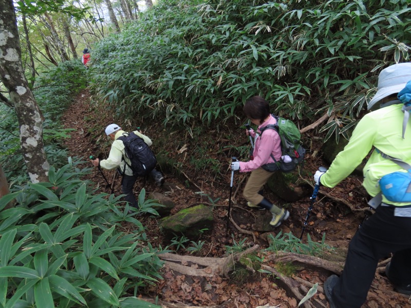
[[[411,202],[390,201],[380,194],[379,186],[383,176],[406,172],[393,160],[384,158],[385,155],[411,164],[411,121],[404,122],[403,131],[402,108],[406,105],[401,101],[404,98],[401,93],[411,94],[411,83],[409,89],[407,85],[410,80],[411,63],[383,69],[378,77],[377,93],[368,103],[368,110],[380,109],[366,114],[329,169],[316,171],[314,175],[317,185],[334,187],[375,148],[363,169],[363,186],[371,197],[382,199],[372,201],[375,214],[363,222],[352,238],[342,275],[332,275],[324,283],[331,308],[360,308],[367,299],[378,261],[391,253],[394,255],[386,267],[386,275],[397,292],[411,295]]]

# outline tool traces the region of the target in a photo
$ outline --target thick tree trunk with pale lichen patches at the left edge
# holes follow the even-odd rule
[[[42,114],[24,75],[13,0],[0,0],[0,78],[14,104],[20,143],[31,182],[48,180]]]

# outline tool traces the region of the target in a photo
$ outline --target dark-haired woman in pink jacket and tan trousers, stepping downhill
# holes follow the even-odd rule
[[[270,225],[278,227],[284,220],[288,219],[290,216],[289,211],[275,206],[259,194],[259,191],[272,175],[272,171],[265,170],[264,165],[274,163],[273,158],[276,161],[281,159],[281,140],[277,131],[275,129],[266,129],[264,134],[261,134],[261,129],[269,124],[276,124],[277,121],[270,113],[268,102],[259,96],[249,99],[244,105],[243,111],[246,117],[258,126],[257,132],[253,129],[246,130],[246,134],[250,134],[254,138],[254,160],[233,162],[231,170],[251,171],[242,195],[247,199],[248,206],[268,209],[273,215]]]

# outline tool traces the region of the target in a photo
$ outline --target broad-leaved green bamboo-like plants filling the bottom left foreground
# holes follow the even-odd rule
[[[128,206],[120,211],[121,196],[94,194],[78,171],[76,164],[52,167],[49,182],[0,199],[0,304],[153,307],[136,296],[161,278],[159,249]],[[17,205],[5,209],[12,199]],[[120,232],[122,221],[134,231]]]

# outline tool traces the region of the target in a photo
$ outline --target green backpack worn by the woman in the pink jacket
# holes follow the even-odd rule
[[[274,163],[261,166],[267,171],[281,170],[283,172],[291,172],[295,167],[304,162],[305,149],[301,146],[301,133],[297,126],[291,121],[284,118],[279,118],[273,115],[277,120],[277,124],[269,124],[261,129],[261,135],[266,129],[275,129],[281,139],[282,158],[276,161],[271,154]],[[284,157],[289,156],[291,161],[284,161]],[[289,160],[289,159],[288,159]]]

